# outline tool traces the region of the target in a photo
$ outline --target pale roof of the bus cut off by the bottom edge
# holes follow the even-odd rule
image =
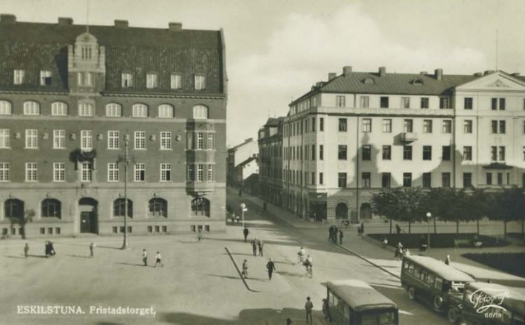
[[[377,308],[377,305],[382,308],[398,308],[393,301],[360,280],[330,281],[326,283],[326,287],[356,311]]]

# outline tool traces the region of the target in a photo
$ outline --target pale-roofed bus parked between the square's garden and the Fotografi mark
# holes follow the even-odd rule
[[[432,303],[437,311],[447,311],[449,301],[463,298],[465,283],[474,279],[460,270],[432,257],[405,256],[402,260],[401,285],[410,299]]]

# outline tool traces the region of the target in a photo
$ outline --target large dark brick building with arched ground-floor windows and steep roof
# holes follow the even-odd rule
[[[128,233],[225,229],[222,30],[1,15],[0,57],[3,235],[123,233],[126,165]]]

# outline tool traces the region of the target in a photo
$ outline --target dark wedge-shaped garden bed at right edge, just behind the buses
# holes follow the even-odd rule
[[[525,253],[467,253],[461,256],[512,275],[525,277]]]

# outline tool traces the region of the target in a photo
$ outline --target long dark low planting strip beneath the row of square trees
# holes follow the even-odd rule
[[[396,247],[401,243],[404,248],[418,248],[421,244],[421,237],[426,243],[426,233],[370,233],[367,236],[379,241],[383,238],[388,240],[388,245]],[[475,233],[430,233],[430,248],[451,248],[454,247],[454,239],[467,239],[472,241]],[[509,245],[505,240],[497,240],[494,237],[478,235],[478,240],[483,243],[482,247],[503,247]],[[460,247],[472,247],[472,245],[460,245]]]

